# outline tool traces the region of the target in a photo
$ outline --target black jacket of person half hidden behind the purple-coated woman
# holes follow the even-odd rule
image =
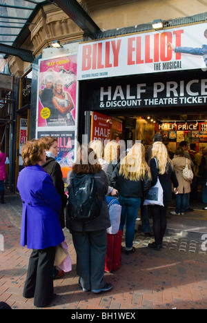
[[[57,193],[61,196],[62,208],[61,208],[60,222],[61,222],[61,227],[65,228],[64,208],[66,207],[67,196],[65,194],[61,166],[54,158],[46,157],[46,163],[44,163],[42,167],[44,168],[46,173],[48,173],[52,177],[52,181],[53,181],[53,184],[55,185]]]

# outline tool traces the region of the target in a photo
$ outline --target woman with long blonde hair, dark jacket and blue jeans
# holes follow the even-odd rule
[[[144,146],[136,143],[112,173],[112,183],[119,191],[119,202],[122,206],[119,230],[123,231],[126,224],[126,255],[135,252],[133,239],[137,212],[141,198],[146,197],[150,190],[150,179]]]

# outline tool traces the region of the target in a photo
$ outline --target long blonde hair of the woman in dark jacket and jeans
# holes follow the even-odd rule
[[[143,180],[146,173],[151,179],[150,168],[145,159],[145,148],[143,144],[136,143],[120,164],[119,174],[131,181]]]

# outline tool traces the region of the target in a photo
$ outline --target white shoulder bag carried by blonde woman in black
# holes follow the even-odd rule
[[[157,165],[157,159],[155,158],[156,165]],[[148,195],[146,199],[144,200],[143,205],[159,205],[164,206],[163,204],[163,188],[159,182],[159,177],[157,177],[157,183],[152,186],[148,192]]]

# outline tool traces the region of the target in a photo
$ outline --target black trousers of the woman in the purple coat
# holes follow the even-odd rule
[[[30,255],[28,274],[23,297],[34,297],[34,305],[44,307],[53,297],[53,266],[56,247],[33,249]]]

